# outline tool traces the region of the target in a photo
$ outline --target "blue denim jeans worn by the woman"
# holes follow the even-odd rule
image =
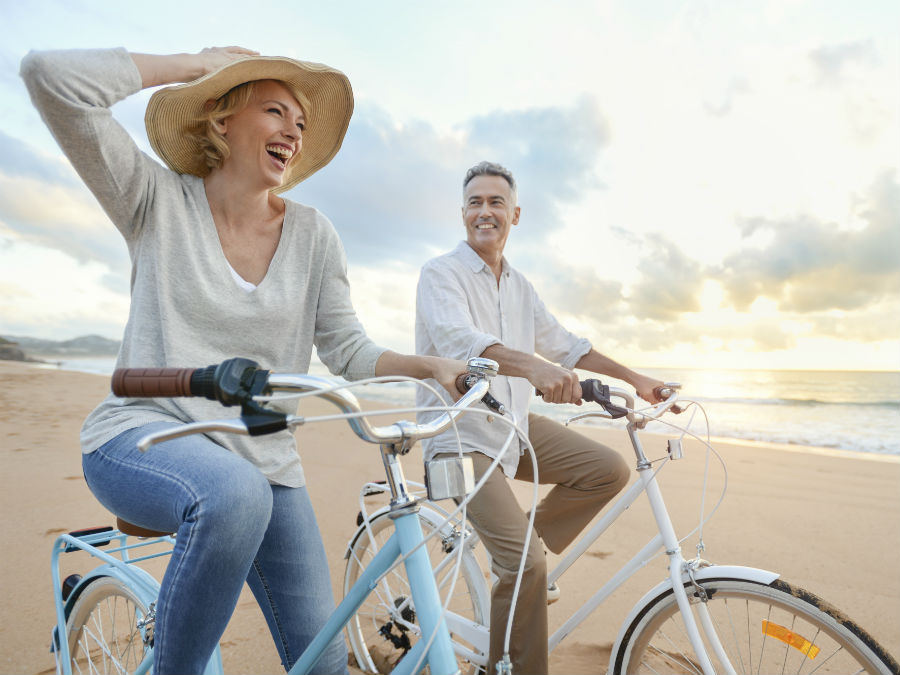
[[[130,429],[82,460],[88,486],[107,509],[176,533],[157,602],[155,672],[204,671],[245,580],[289,669],[334,608],[306,488],[270,485],[253,464],[205,436],[137,449],[142,436],[170,426]],[[342,635],[315,671],[347,672]]]

